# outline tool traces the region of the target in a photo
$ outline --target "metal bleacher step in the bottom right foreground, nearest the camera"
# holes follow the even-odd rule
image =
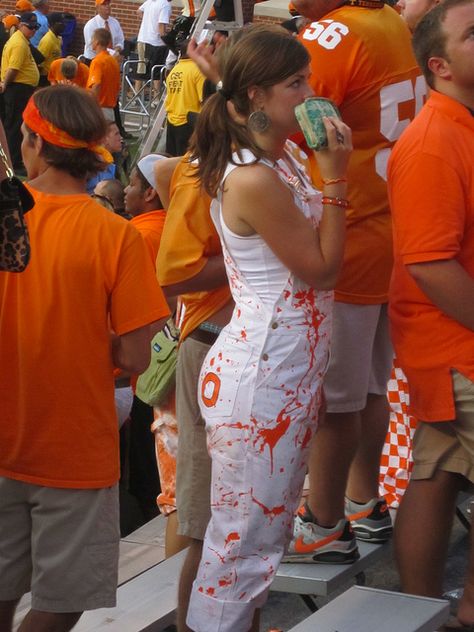
[[[435,632],[449,618],[449,603],[352,586],[290,632]]]

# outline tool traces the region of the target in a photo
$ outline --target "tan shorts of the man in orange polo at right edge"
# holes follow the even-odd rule
[[[456,420],[418,424],[413,440],[414,480],[443,470],[474,483],[474,383],[458,371],[452,374]]]

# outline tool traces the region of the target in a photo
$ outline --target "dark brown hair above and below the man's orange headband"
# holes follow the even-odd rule
[[[94,97],[76,86],[55,85],[33,95],[36,107],[47,121],[73,138],[100,143],[106,121]],[[43,141],[41,155],[48,165],[84,178],[103,171],[106,164],[90,149],[67,149]]]

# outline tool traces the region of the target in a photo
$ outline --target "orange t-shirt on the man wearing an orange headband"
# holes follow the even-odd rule
[[[0,476],[102,488],[119,478],[110,330],[169,309],[133,226],[85,194],[31,189],[31,261],[0,273]]]

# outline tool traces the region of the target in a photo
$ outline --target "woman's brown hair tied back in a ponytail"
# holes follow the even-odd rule
[[[205,102],[191,138],[191,160],[198,159],[198,175],[205,190],[215,197],[232,153],[249,149],[264,157],[246,125],[232,119],[231,101],[237,114],[247,118],[252,104],[251,86],[270,88],[309,64],[307,50],[279,26],[249,26],[233,35],[218,52],[222,90]]]

